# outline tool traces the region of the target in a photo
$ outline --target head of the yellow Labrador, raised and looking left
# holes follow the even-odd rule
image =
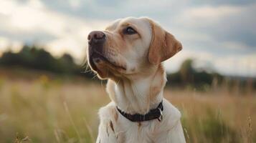
[[[118,19],[87,39],[87,59],[102,79],[146,74],[182,49],[172,34],[148,18]]]

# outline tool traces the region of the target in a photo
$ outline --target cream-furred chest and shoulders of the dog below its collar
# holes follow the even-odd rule
[[[113,102],[100,109],[100,128],[98,140],[108,142],[166,142],[172,128],[179,121],[178,109],[163,100],[163,120],[131,122],[120,114]],[[183,134],[183,133],[182,133]],[[106,141],[107,142],[107,141]]]

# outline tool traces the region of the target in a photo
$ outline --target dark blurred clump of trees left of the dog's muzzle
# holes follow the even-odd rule
[[[21,66],[28,69],[52,71],[58,74],[77,74],[85,77],[93,77],[90,72],[81,74],[82,66],[75,64],[70,54],[63,54],[55,58],[48,51],[37,46],[24,45],[19,53],[6,51],[0,57],[0,66]]]

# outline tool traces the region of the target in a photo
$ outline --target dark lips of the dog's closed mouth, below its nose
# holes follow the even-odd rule
[[[90,66],[92,67],[92,69],[94,69],[95,71],[102,70],[99,69],[97,66],[97,64],[99,64],[101,61],[104,61],[104,64],[110,66],[111,69],[126,70],[125,67],[115,64],[113,61],[110,61],[107,57],[105,57],[103,54],[100,54],[98,51],[93,51],[89,58]]]

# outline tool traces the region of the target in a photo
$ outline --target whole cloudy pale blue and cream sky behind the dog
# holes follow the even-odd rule
[[[165,62],[168,72],[190,58],[220,74],[256,77],[255,14],[252,0],[0,0],[0,56],[37,44],[81,62],[90,31],[115,19],[148,16],[183,44]]]

